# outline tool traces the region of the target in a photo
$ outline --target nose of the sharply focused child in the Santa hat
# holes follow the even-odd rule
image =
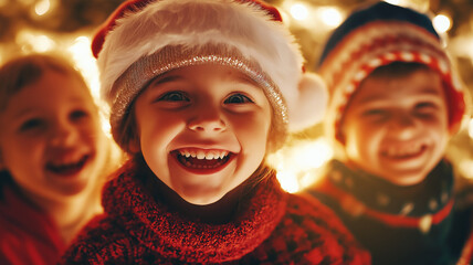
[[[218,106],[201,104],[197,106],[189,119],[188,128],[193,131],[218,132],[225,130],[227,125]]]

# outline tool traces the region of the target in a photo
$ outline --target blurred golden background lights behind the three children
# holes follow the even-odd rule
[[[315,71],[328,33],[367,0],[267,0],[283,13],[306,57],[306,68]],[[445,39],[466,89],[473,91],[473,1],[390,0],[429,12]],[[91,36],[122,0],[0,0],[0,63],[19,53],[59,50],[71,56],[98,98],[95,61],[90,52]],[[465,117],[448,153],[462,180],[473,181],[473,120]],[[322,126],[292,137],[287,148],[271,157],[278,178],[288,191],[316,181],[317,173],[333,152],[322,136]],[[104,119],[104,129],[107,123]]]

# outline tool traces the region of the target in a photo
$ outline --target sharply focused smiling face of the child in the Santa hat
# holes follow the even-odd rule
[[[216,202],[261,165],[271,125],[264,92],[239,71],[188,66],[155,80],[137,98],[141,150],[155,174],[195,204]]]

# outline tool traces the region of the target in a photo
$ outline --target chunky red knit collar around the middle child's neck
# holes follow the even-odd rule
[[[168,258],[221,263],[242,257],[266,240],[285,213],[286,193],[275,176],[262,181],[234,221],[212,225],[192,222],[156,201],[128,162],[107,183],[103,205],[112,219],[143,245]]]

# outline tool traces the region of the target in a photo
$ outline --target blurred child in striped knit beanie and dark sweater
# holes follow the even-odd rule
[[[319,73],[339,153],[309,193],[338,213],[374,264],[452,264],[464,239],[449,240],[444,151],[465,102],[429,17],[383,1],[356,10],[328,39]]]

